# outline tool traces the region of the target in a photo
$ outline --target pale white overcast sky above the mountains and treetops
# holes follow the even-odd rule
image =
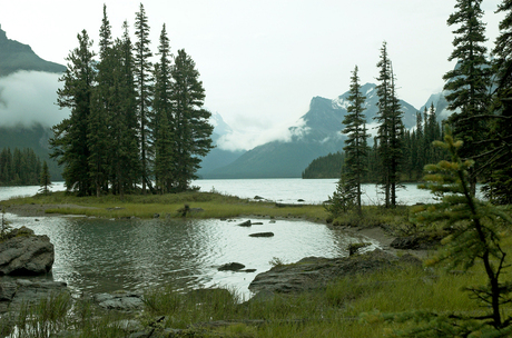
[[[484,0],[488,47],[498,36],[500,0]],[[140,1],[2,1],[0,24],[9,39],[30,44],[41,58],[66,63],[86,29],[98,50],[102,6],[115,37],[128,20],[135,31]],[[453,68],[454,28],[446,19],[455,0],[147,0],[155,52],[163,23],[173,52],[196,61],[206,107],[254,143],[307,112],[315,96],[348,90],[351,71],[376,82],[382,42],[397,78],[398,96],[416,108],[441,91]],[[278,132],[277,132],[278,133]],[[249,142],[249,143],[250,143]],[[248,147],[248,146],[247,146]]]

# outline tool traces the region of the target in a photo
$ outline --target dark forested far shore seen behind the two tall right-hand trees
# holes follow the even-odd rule
[[[401,181],[420,181],[423,168],[427,163],[437,162],[446,157],[440,149],[432,146],[435,140],[442,140],[442,122],[439,122],[434,108],[416,113],[416,128],[405,130],[402,136],[403,159],[401,162]],[[303,171],[305,179],[339,178],[345,161],[344,152],[329,153],[313,160]],[[362,181],[377,183],[381,179],[380,155],[377,143],[368,150],[366,157],[366,172]]]

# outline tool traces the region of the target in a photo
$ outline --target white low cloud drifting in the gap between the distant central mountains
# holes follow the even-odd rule
[[[230,151],[250,150],[272,141],[289,142],[292,138],[303,137],[307,130],[302,119],[292,128],[286,122],[263,129],[263,131],[259,128],[257,130],[246,128],[221,136],[217,140],[217,147]]]

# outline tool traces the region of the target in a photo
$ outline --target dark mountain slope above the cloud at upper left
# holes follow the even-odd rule
[[[0,77],[6,77],[19,70],[37,70],[60,73],[66,67],[45,61],[39,58],[28,44],[7,38],[0,26]]]

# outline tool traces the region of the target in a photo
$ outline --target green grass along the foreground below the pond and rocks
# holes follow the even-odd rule
[[[484,274],[476,268],[453,274],[407,267],[341,278],[325,290],[248,302],[240,302],[233,290],[183,294],[168,285],[147,290],[145,310],[131,315],[106,312],[86,300],[72,301],[65,294],[12,317],[18,327],[18,336],[12,337],[48,337],[59,331],[80,332],[71,337],[126,337],[119,320],[129,317],[148,329],[180,329],[175,337],[393,337],[406,325],[384,320],[385,314],[481,314],[479,304],[461,288],[484,281]],[[1,320],[0,326],[7,328]]]

